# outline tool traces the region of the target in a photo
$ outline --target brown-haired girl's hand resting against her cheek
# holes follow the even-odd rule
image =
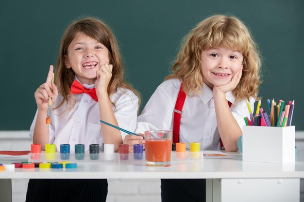
[[[95,89],[97,95],[99,93],[107,93],[107,88],[109,82],[112,78],[112,64],[102,64],[99,69],[96,71],[96,82],[95,82]]]

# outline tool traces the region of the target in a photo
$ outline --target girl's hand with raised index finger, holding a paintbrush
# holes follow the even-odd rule
[[[47,81],[41,84],[41,86],[39,86],[39,88],[37,88],[36,92],[34,93],[39,110],[48,110],[48,102],[50,97],[52,97],[52,103],[54,103],[57,99],[58,90],[56,85],[52,83],[53,70],[53,65],[50,65]]]

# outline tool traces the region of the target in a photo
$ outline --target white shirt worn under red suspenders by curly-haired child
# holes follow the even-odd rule
[[[135,133],[146,130],[171,130],[173,128],[173,110],[175,107],[181,81],[169,79],[158,86],[152,94],[140,116],[137,117]],[[226,99],[232,103],[231,112],[240,128],[245,125],[244,117],[250,116],[247,101],[241,100],[234,105],[232,92],[226,93]],[[254,98],[250,97],[251,109]],[[227,128],[229,130],[229,128]],[[186,96],[180,124],[180,142],[200,142],[201,150],[219,150],[220,134],[215,113],[212,90],[203,84],[201,93],[193,97]]]

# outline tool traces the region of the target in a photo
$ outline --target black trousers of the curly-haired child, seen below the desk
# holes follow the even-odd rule
[[[162,202],[205,202],[205,179],[161,179]]]

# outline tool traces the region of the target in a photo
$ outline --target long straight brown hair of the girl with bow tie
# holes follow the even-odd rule
[[[65,57],[68,55],[68,46],[79,32],[92,37],[109,50],[109,63],[113,65],[113,70],[112,78],[107,88],[108,95],[117,92],[118,87],[129,89],[137,95],[139,99],[138,104],[140,106],[140,94],[123,79],[123,62],[121,60],[118,43],[113,32],[101,20],[88,17],[70,24],[61,39],[55,77],[58,91],[62,94],[63,100],[56,108],[59,108],[65,102],[67,104],[68,102],[71,103],[69,109],[72,109],[75,106],[75,102],[72,102],[71,100],[71,97],[73,96],[71,96],[70,93],[72,82],[75,79],[75,73],[72,68],[67,68],[65,66]],[[115,103],[112,102],[112,104],[115,106]]]

